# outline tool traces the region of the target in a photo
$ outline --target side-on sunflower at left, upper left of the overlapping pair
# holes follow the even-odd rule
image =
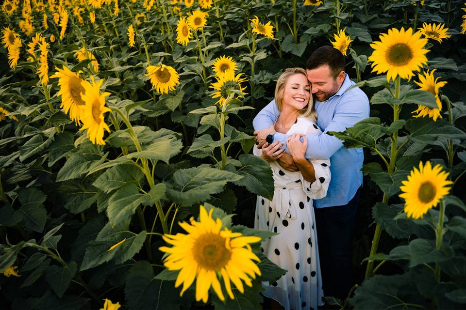
[[[58,95],[62,96],[60,108],[64,109],[66,114],[69,111],[69,118],[78,125],[80,124],[82,108],[85,106],[85,102],[81,98],[85,92],[84,81],[76,73],[71,72],[67,66],[63,66],[63,69],[58,67],[55,69],[57,72],[50,78],[58,78],[58,86],[60,86]]]

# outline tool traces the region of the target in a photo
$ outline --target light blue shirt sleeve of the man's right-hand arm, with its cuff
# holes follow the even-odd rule
[[[306,135],[307,150],[305,157],[308,159],[328,159],[335,154],[342,146],[343,142],[338,138],[327,134],[329,131],[344,131],[352,127],[357,122],[369,116],[369,100],[365,94],[346,94],[349,98],[341,100],[335,108],[333,119],[321,134]],[[257,117],[257,116],[256,116]],[[274,141],[283,143],[285,151],[286,134],[275,133]]]

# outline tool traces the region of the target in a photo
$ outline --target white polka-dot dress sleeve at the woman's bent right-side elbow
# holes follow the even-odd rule
[[[330,160],[326,159],[314,159],[309,160],[314,166],[314,174],[316,181],[309,182],[300,176],[302,189],[306,195],[311,199],[321,199],[327,196],[327,190],[329,189],[331,174],[330,174]]]

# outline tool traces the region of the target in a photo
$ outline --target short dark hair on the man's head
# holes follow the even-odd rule
[[[307,59],[306,69],[312,70],[323,65],[328,65],[333,78],[336,78],[341,71],[345,70],[345,56],[334,47],[319,47]]]

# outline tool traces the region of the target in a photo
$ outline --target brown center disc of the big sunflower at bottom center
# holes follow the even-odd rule
[[[194,244],[193,256],[202,268],[216,271],[225,267],[232,253],[225,247],[225,238],[214,233],[204,233]]]

